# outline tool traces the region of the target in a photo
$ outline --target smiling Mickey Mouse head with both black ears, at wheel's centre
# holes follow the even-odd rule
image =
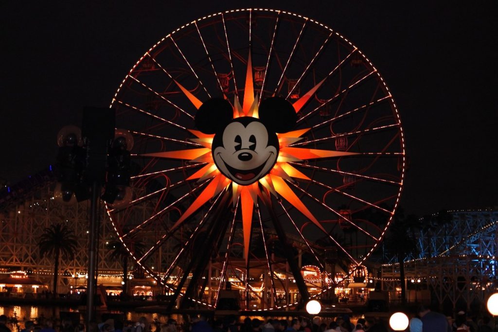
[[[233,119],[232,106],[223,99],[205,102],[196,114],[199,130],[215,134],[212,153],[218,170],[240,185],[269,173],[278,157],[276,132],[288,131],[297,118],[292,105],[281,98],[262,101],[259,117]]]

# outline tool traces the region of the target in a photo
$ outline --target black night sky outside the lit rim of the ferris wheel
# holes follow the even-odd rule
[[[58,130],[79,124],[83,106],[107,107],[132,64],[164,35],[212,12],[263,6],[339,31],[387,81],[411,160],[405,210],[498,205],[496,1],[6,2],[2,181],[53,163]]]

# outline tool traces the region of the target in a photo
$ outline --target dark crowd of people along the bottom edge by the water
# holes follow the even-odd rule
[[[494,321],[489,316],[480,319],[467,317],[466,313],[458,312],[455,319],[431,311],[428,307],[420,306],[414,315],[411,315],[407,332],[492,332]],[[7,318],[0,316],[0,332],[11,332],[7,327]],[[24,329],[14,332],[85,332],[85,326],[71,320],[38,319],[35,322],[26,321]],[[257,318],[246,318],[239,322],[236,316],[211,319],[207,315],[184,316],[181,325],[173,318],[164,324],[159,321],[150,322],[141,317],[137,322],[108,319],[101,323],[94,323],[88,332],[391,332],[385,319],[360,318],[356,322],[344,314],[336,318],[307,317],[287,319],[268,319],[261,321]]]

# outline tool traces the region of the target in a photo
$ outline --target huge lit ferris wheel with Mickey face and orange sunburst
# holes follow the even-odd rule
[[[130,202],[108,214],[172,302],[216,308],[231,283],[245,309],[263,288],[260,310],[295,305],[275,300],[286,276],[301,299],[319,296],[332,278],[310,295],[296,252],[321,271],[330,252],[361,266],[398,205],[394,99],[354,44],[311,18],[253,8],[185,24],[138,59],[111,107],[136,172]]]

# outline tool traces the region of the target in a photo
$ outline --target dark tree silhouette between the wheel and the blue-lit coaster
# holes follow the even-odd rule
[[[415,215],[405,216],[402,209],[398,208],[394,214],[393,223],[385,239],[389,253],[396,256],[399,264],[399,280],[401,284],[401,301],[406,303],[404,260],[417,252],[417,242],[412,235],[412,229],[420,226],[419,218]]]

